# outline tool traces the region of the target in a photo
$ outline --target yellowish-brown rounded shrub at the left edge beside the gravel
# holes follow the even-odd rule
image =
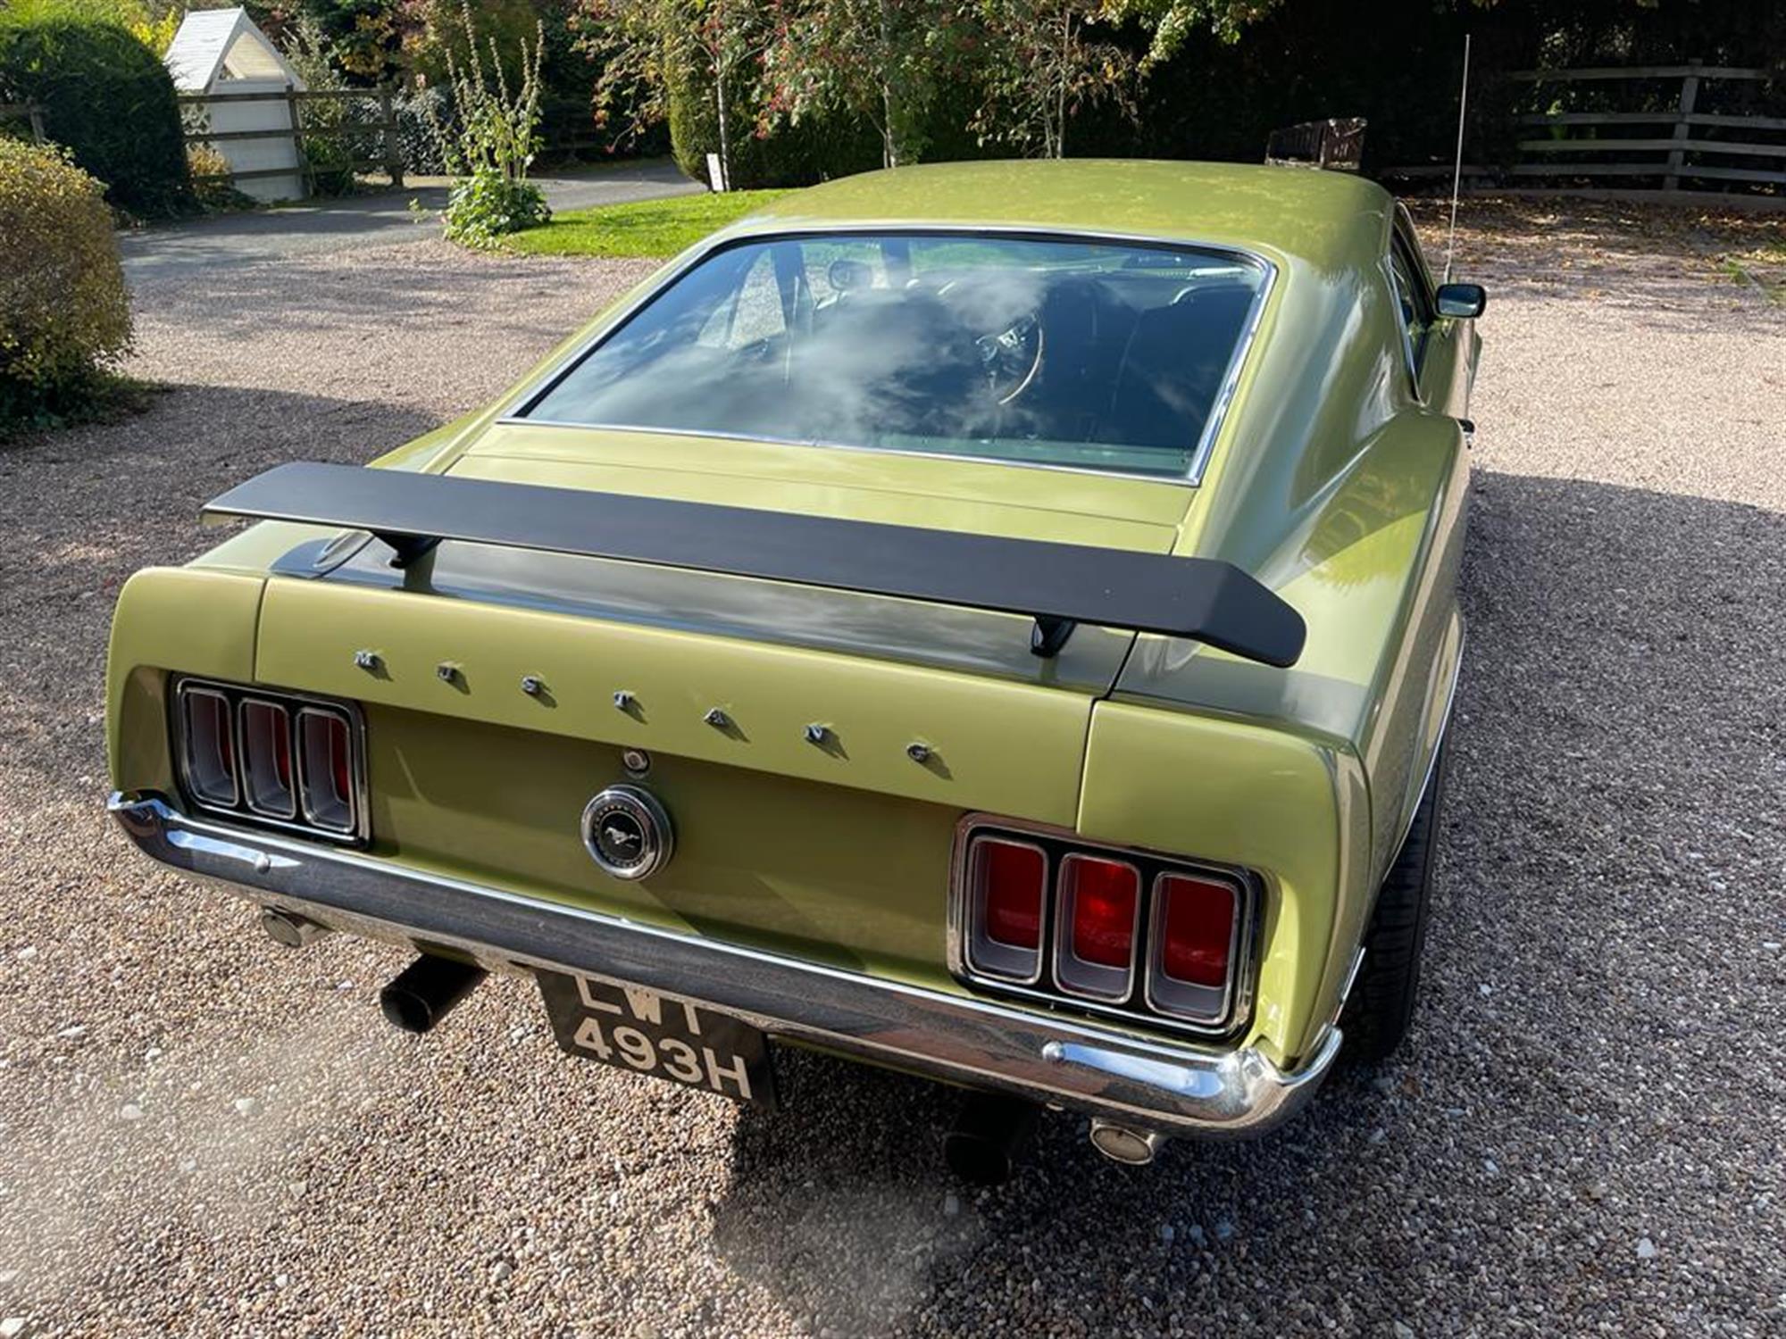
[[[0,139],[0,432],[79,412],[129,343],[100,184],[59,150]]]

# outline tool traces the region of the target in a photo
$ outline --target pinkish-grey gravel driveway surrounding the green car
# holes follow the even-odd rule
[[[1786,314],[1609,216],[1500,220],[1463,261],[1493,286],[1470,653],[1411,1046],[1145,1171],[1052,1118],[989,1193],[941,1171],[923,1084],[793,1055],[761,1118],[561,1057],[518,980],[405,1037],[375,1005],[398,953],[282,953],[127,850],[125,575],[198,552],[225,482],[486,400],[648,266],[139,271],[136,371],[175,389],[0,448],[0,1319],[1786,1332]]]

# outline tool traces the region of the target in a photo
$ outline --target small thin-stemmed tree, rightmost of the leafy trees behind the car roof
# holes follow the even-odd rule
[[[973,120],[981,143],[1059,159],[1066,123],[1084,107],[1114,102],[1134,116],[1134,57],[1086,36],[1102,12],[1102,0],[982,0],[986,100]]]

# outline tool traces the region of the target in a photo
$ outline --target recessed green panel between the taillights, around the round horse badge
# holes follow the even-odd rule
[[[834,968],[945,980],[950,807],[766,771],[741,784],[730,766],[659,750],[647,786],[677,819],[677,853],[661,875],[622,882],[577,828],[589,796],[625,775],[613,743],[377,703],[366,739],[375,855]]]

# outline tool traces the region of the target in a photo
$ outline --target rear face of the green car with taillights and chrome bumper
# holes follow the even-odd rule
[[[838,598],[863,628],[900,603]],[[1018,618],[975,621],[1027,639]],[[1256,1132],[1338,1044],[1320,966],[1347,768],[1263,727],[1111,702],[1089,666],[1125,634],[1077,637],[1066,682],[1018,680],[152,570],[113,643],[114,811],[152,857],[275,911],[288,943],[327,927],[645,987],[772,1048],[1141,1134]],[[591,850],[586,811],[614,787],[668,819],[648,878]],[[739,1096],[723,1073],[697,1085]]]

